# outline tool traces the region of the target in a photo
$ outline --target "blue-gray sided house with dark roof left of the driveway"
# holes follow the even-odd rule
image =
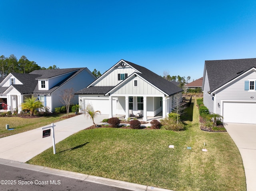
[[[74,92],[87,87],[96,77],[87,68],[35,70],[29,74],[10,73],[0,82],[0,98],[7,102],[8,110],[22,110],[27,97],[36,96],[42,104],[54,112],[62,106],[60,95],[65,89]],[[76,95],[72,103],[78,103]]]

